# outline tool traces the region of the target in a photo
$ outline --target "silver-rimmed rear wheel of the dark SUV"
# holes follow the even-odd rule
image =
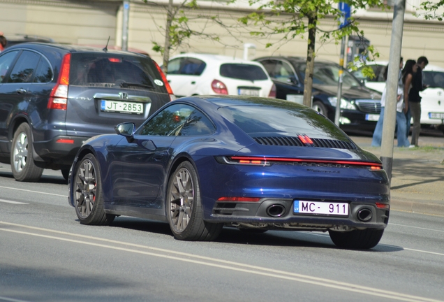
[[[10,166],[15,180],[22,182],[38,182],[43,173],[32,158],[33,145],[29,124],[23,123],[14,133],[13,145],[10,150]]]

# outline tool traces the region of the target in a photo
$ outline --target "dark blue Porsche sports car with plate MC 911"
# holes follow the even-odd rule
[[[145,217],[181,240],[214,240],[223,226],[328,231],[358,249],[387,226],[380,160],[306,106],[191,96],[116,131],[90,138],[73,162],[68,199],[82,224]]]

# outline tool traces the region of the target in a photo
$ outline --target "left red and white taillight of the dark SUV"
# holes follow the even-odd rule
[[[50,100],[47,102],[48,109],[66,110],[68,103],[69,69],[71,64],[71,54],[66,54],[61,62],[59,80],[52,88]]]

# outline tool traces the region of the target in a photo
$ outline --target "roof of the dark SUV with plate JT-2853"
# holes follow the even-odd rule
[[[64,52],[101,52],[101,53],[110,53],[110,54],[120,54],[120,55],[137,55],[140,57],[147,57],[145,55],[140,55],[135,52],[125,52],[123,50],[103,50],[103,48],[96,48],[93,46],[87,45],[73,45],[73,44],[59,44],[59,43],[39,43],[39,42],[31,42],[31,43],[20,43],[8,48],[8,50],[13,50],[16,48],[29,48],[34,50],[39,49],[58,49]]]

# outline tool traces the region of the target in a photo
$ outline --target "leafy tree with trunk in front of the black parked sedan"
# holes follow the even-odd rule
[[[353,17],[356,10],[368,7],[387,8],[381,0],[344,0],[342,2],[352,8],[348,25],[341,29],[338,27],[330,30],[323,29],[320,21],[327,17],[333,18],[338,25],[340,24],[339,2],[339,0],[270,0],[264,3],[263,0],[249,0],[250,6],[258,6],[258,10],[239,19],[245,25],[253,23],[258,26],[257,31],[251,31],[250,34],[253,36],[281,35],[282,41],[308,37],[304,78],[304,105],[306,106],[311,107],[316,34],[320,33],[318,39],[321,43],[333,38],[336,44],[341,41],[343,36],[350,34],[364,36],[364,32],[358,29],[358,22]],[[266,45],[266,47],[271,46],[273,46],[272,43]],[[364,56],[379,56],[373,46],[369,46],[367,52]],[[365,62],[362,63],[365,64]],[[363,72],[365,75],[373,75],[373,71],[369,67],[365,68]]]

